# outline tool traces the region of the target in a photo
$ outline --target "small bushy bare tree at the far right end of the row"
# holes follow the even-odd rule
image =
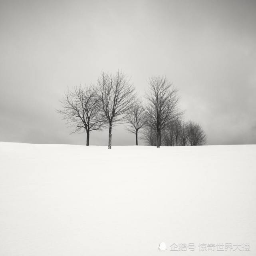
[[[206,143],[206,134],[201,125],[189,121],[187,123],[187,138],[191,146],[204,145]]]

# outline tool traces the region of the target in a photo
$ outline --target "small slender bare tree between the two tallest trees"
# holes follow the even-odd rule
[[[127,131],[134,133],[136,137],[136,145],[138,145],[138,131],[145,127],[147,120],[145,117],[145,110],[141,101],[137,101],[135,105],[127,111]]]

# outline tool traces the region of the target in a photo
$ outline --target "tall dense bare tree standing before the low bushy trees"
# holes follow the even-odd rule
[[[173,88],[166,77],[151,77],[149,91],[146,94],[148,105],[146,113],[150,120],[150,127],[156,131],[156,145],[161,145],[161,131],[181,112],[178,111],[177,89]]]

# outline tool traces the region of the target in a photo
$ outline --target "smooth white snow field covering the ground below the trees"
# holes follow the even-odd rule
[[[256,145],[0,143],[1,256],[159,254],[256,255]]]

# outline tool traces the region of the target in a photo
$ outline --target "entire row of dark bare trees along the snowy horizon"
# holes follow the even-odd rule
[[[120,123],[126,123],[127,131],[135,134],[136,145],[139,132],[152,146],[203,145],[206,135],[202,127],[192,121],[182,121],[177,89],[166,77],[151,77],[148,83],[144,105],[125,74],[102,72],[97,86],[67,90],[58,113],[73,127],[73,133],[86,132],[87,146],[91,131],[108,127],[108,148],[111,149],[112,126]]]

